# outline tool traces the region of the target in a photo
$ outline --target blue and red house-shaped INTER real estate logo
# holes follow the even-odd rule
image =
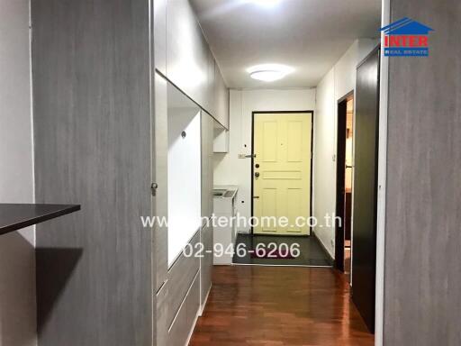
[[[434,30],[410,18],[402,18],[384,28],[385,57],[428,57],[429,32]]]

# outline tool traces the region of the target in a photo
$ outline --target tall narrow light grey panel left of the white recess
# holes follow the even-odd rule
[[[152,149],[152,161],[155,165],[152,166],[153,180],[158,184],[156,196],[153,198],[153,215],[160,218],[168,216],[168,172],[167,172],[167,156],[168,156],[168,138],[167,138],[167,80],[161,77],[157,72],[154,76],[155,89],[155,115],[154,115],[154,145]],[[156,223],[154,226],[153,237],[153,255],[155,268],[155,291],[161,287],[167,279],[168,270],[168,229],[167,225]]]

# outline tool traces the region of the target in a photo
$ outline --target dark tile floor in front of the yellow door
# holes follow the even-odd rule
[[[299,244],[300,255],[297,258],[258,258],[254,254],[258,244],[260,247],[268,248],[268,244],[275,242],[277,247],[285,243],[290,247],[292,244]],[[312,267],[331,267],[330,258],[325,250],[321,247],[319,241],[313,236],[272,236],[272,235],[251,235],[238,234],[236,240],[236,249],[244,246],[246,254],[243,257],[238,256],[237,251],[234,254],[232,262],[234,264],[256,264],[256,265],[285,265],[285,266],[312,266]],[[271,245],[271,249],[274,245]],[[285,248],[284,248],[285,249]],[[283,253],[283,252],[282,252]]]

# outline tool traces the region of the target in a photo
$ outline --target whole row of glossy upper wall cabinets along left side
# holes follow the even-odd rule
[[[229,90],[188,0],[154,1],[155,68],[229,128]]]

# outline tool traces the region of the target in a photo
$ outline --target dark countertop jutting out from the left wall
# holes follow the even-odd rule
[[[80,205],[28,205],[0,203],[0,234],[14,232],[80,210]]]

